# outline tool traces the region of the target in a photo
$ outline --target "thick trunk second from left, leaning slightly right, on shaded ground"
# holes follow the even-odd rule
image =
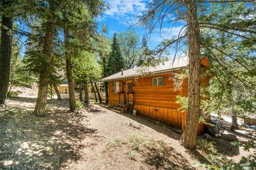
[[[50,5],[51,8],[51,5]],[[44,45],[43,45],[43,54],[45,56],[45,62],[51,64],[52,60],[52,40],[54,35],[54,24],[52,22],[52,15],[49,14],[48,21],[46,22],[45,36],[44,36]],[[48,94],[48,83],[49,83],[49,66],[41,68],[39,75],[39,87],[38,95],[36,100],[36,106],[34,114],[36,116],[44,116],[47,94]]]

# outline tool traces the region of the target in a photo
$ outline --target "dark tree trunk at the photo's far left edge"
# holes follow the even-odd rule
[[[3,0],[2,7],[7,8],[11,0]],[[13,19],[10,16],[2,14],[1,43],[0,43],[0,107],[5,106],[7,89],[10,76],[10,65],[12,55],[12,30]]]

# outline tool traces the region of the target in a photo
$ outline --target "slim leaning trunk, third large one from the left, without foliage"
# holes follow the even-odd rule
[[[76,97],[75,97],[75,86],[74,86],[74,80],[72,75],[71,56],[68,55],[69,36],[68,36],[67,24],[65,24],[64,26],[64,36],[65,36],[66,72],[67,72],[68,90],[69,90],[69,111],[75,112],[77,110],[77,107],[76,107]]]

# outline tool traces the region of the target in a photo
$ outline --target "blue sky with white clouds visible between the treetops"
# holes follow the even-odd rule
[[[110,9],[106,10],[103,13],[102,17],[98,19],[99,29],[101,29],[101,25],[103,23],[108,24],[109,33],[108,37],[113,37],[114,32],[118,31],[126,31],[130,28],[131,25],[137,23],[138,15],[141,15],[144,10],[147,8],[147,4],[149,1],[143,0],[105,0],[109,5]],[[171,38],[172,36],[177,36],[181,27],[183,27],[184,23],[178,23],[170,29],[170,25],[164,25],[163,32],[161,33],[164,38]],[[168,27],[169,26],[169,27]],[[138,33],[138,35],[142,38],[145,34],[145,28],[139,27],[135,25],[132,27]],[[161,43],[163,39],[159,36],[159,29],[156,29],[151,35],[149,40],[149,47],[154,48],[159,43]],[[172,50],[171,50],[172,51]],[[172,51],[171,53],[174,53]]]

